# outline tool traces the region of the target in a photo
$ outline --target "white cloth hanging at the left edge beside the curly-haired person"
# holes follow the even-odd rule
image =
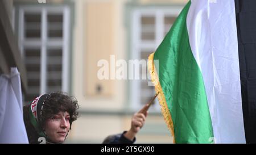
[[[0,143],[28,143],[17,68],[0,76]]]

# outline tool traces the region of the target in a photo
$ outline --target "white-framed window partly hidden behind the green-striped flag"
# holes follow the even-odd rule
[[[131,22],[131,58],[133,60],[147,60],[148,56],[155,52],[181,9],[182,7],[154,7],[154,9],[133,11]],[[141,108],[154,97],[155,87],[148,85],[150,79],[131,81],[131,104],[134,109]],[[158,99],[155,99],[150,110],[160,111]]]

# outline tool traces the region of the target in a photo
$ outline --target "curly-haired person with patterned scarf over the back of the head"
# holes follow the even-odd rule
[[[63,92],[40,95],[23,107],[29,143],[64,143],[79,104]]]

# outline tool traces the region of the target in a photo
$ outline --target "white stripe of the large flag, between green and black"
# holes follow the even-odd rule
[[[187,28],[204,78],[215,143],[245,143],[234,1],[192,0]]]

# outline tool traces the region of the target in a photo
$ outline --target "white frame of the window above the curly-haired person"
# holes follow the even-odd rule
[[[24,59],[25,48],[39,48],[40,49],[40,91],[39,94],[45,94],[47,91],[47,49],[62,49],[62,62],[61,62],[61,91],[69,92],[69,74],[70,68],[70,31],[71,31],[71,8],[68,5],[19,5],[15,8],[18,11],[18,42],[19,48]],[[39,39],[26,39],[24,37],[24,15],[26,13],[39,13],[41,15],[41,36]],[[63,36],[60,38],[49,38],[47,32],[47,15],[48,14],[62,14],[63,15]]]

